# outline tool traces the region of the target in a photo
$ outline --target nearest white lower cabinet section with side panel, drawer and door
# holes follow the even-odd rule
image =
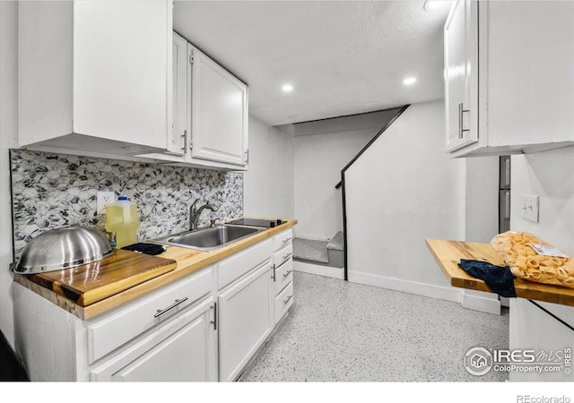
[[[83,321],[13,285],[16,351],[31,381],[217,381],[213,266]]]

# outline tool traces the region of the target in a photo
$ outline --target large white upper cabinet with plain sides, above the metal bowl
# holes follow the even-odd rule
[[[20,2],[19,145],[180,151],[170,139],[172,7]]]

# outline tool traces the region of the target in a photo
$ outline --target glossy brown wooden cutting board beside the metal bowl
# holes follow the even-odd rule
[[[100,262],[24,277],[75,304],[88,306],[176,267],[171,259],[117,249]]]

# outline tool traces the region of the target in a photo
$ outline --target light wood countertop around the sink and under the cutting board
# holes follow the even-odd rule
[[[238,253],[253,244],[257,244],[265,239],[273,237],[285,229],[294,227],[296,224],[296,219],[289,219],[279,227],[266,228],[265,231],[261,231],[253,236],[248,236],[247,238],[241,239],[238,242],[234,242],[212,252],[202,252],[169,245],[166,247],[168,252],[161,253],[158,256],[177,261],[178,265],[175,270],[171,270],[161,276],[149,279],[135,287],[128,288],[114,296],[109,296],[108,298],[87,306],[75,304],[74,301],[65,298],[65,296],[60,296],[46,287],[41,287],[38,284],[31,282],[29,279],[26,279],[25,276],[14,273],[13,279],[23,287],[27,287],[39,296],[57,304],[59,307],[65,309],[65,311],[74,314],[74,316],[77,316],[84,321],[88,321],[102,313],[109,312],[111,309],[114,309],[121,304],[125,304],[139,296],[143,296],[158,287],[170,284],[172,281],[181,279],[196,270],[203,269],[214,262],[219,262],[233,253]]]

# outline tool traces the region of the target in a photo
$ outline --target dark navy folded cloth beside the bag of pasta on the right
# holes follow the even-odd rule
[[[514,276],[509,267],[496,266],[489,262],[461,259],[458,266],[475,279],[482,279],[493,292],[507,298],[516,297]]]

